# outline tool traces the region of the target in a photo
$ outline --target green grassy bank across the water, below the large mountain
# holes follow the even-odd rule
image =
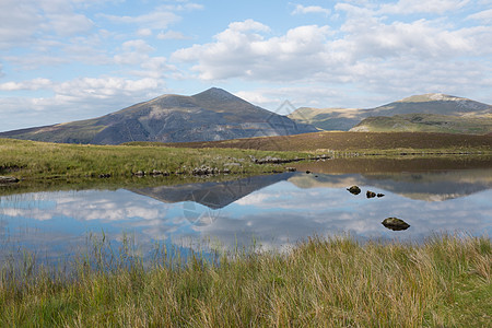
[[[232,174],[269,173],[279,167],[255,164],[250,156],[294,159],[298,152],[185,149],[141,145],[81,145],[0,139],[0,175],[20,178],[129,177],[139,171],[191,174],[202,165]],[[239,165],[227,165],[237,163]]]

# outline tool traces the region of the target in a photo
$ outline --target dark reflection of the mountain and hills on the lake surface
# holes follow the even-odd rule
[[[303,189],[347,188],[352,185],[366,185],[410,199],[442,201],[466,197],[491,188],[492,169],[340,175],[282,173],[222,183],[207,181],[129,190],[167,203],[194,201],[216,210],[251,192],[283,180]]]

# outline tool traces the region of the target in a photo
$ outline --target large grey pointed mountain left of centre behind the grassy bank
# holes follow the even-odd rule
[[[212,141],[314,132],[222,89],[192,96],[167,94],[87,120],[1,132],[0,138],[119,144],[129,141]]]

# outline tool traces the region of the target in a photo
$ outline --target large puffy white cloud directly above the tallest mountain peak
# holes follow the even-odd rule
[[[271,38],[256,33],[268,31],[268,26],[251,20],[234,22],[215,35],[215,43],[177,50],[172,58],[198,61],[195,70],[203,80],[298,78],[316,73],[314,62],[325,62],[319,55],[325,50],[328,26],[300,26]]]

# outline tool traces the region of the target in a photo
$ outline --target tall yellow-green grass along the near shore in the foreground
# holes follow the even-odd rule
[[[4,267],[0,326],[485,327],[491,256],[487,237],[332,238],[222,257],[220,266],[199,256],[172,266],[160,253],[147,269],[125,256],[107,267],[81,257],[71,278],[25,267],[13,278]]]

